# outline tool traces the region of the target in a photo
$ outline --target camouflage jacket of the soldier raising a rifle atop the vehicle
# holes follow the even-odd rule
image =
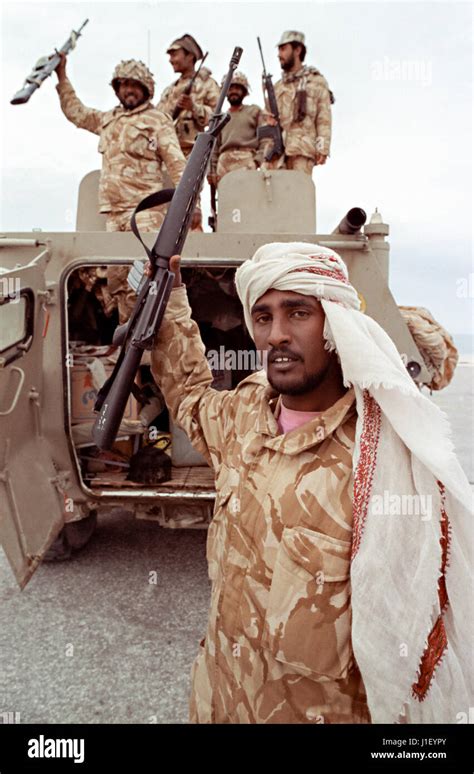
[[[158,191],[162,187],[162,162],[173,183],[179,183],[186,160],[172,122],[151,102],[134,110],[120,106],[103,112],[83,105],[70,81],[58,83],[56,88],[66,118],[100,137],[100,212],[133,209],[145,196]]]

